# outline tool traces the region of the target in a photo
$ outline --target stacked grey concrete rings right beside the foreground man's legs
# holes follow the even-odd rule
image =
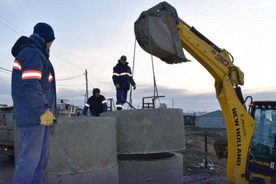
[[[58,118],[49,148],[44,184],[118,183],[115,118]]]

